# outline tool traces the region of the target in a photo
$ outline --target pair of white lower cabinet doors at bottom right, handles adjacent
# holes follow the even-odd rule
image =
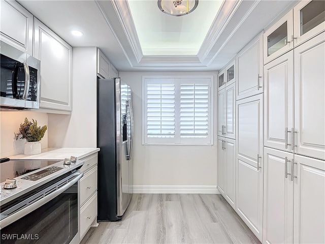
[[[325,162],[264,149],[264,243],[325,243]]]

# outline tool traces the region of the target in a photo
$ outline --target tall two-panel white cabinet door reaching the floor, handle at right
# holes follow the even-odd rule
[[[236,211],[263,237],[263,94],[237,101]]]

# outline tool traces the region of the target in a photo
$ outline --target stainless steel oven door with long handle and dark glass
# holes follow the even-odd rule
[[[70,174],[6,207],[1,212],[1,243],[79,243],[82,176]]]

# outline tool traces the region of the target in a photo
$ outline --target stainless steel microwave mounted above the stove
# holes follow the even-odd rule
[[[1,110],[40,108],[40,60],[2,41],[0,55]]]

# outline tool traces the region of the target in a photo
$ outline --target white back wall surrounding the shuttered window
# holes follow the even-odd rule
[[[214,145],[157,146],[142,145],[142,76],[143,75],[213,75],[216,97],[216,72],[119,72],[133,92],[134,185],[141,186],[216,186],[216,129]],[[214,128],[217,106],[214,98]]]

